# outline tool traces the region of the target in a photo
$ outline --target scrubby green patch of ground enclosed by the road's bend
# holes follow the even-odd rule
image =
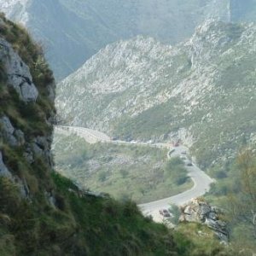
[[[63,149],[66,148],[66,149]],[[167,149],[97,143],[55,134],[55,167],[84,188],[117,199],[159,200],[192,187],[181,160],[167,162]]]

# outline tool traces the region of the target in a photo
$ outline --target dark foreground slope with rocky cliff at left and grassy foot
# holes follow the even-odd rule
[[[49,151],[54,98],[55,81],[42,49],[23,28],[1,16],[1,255],[224,252],[213,236],[206,237],[210,247],[195,247],[189,236],[143,218],[135,203],[88,195],[56,174]]]

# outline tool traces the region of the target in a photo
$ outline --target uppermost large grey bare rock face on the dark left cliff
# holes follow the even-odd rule
[[[29,68],[3,38],[0,38],[0,49],[0,60],[5,65],[9,85],[15,88],[24,102],[35,102],[38,98],[38,89],[32,83]]]

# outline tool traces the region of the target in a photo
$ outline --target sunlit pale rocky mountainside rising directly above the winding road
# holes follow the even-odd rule
[[[171,47],[110,44],[58,84],[64,119],[124,139],[181,138],[201,166],[255,142],[256,26],[207,21]]]

